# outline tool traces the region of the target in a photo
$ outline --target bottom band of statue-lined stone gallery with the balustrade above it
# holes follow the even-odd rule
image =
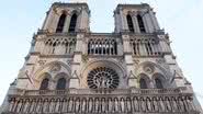
[[[185,88],[18,90],[4,114],[200,114]]]

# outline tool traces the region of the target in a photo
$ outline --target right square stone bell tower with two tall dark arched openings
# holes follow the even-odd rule
[[[119,4],[114,11],[115,32],[154,33],[160,30],[155,12],[146,4]]]

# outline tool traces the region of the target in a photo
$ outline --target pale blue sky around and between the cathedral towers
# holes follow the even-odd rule
[[[16,78],[30,49],[32,35],[42,26],[45,12],[59,0],[0,0],[0,103]],[[61,0],[69,1],[69,0]],[[75,0],[71,0],[75,1]],[[84,1],[84,0],[83,0]],[[203,105],[203,0],[86,0],[91,10],[91,31],[113,32],[117,3],[147,2],[155,8],[160,26],[184,76]]]

